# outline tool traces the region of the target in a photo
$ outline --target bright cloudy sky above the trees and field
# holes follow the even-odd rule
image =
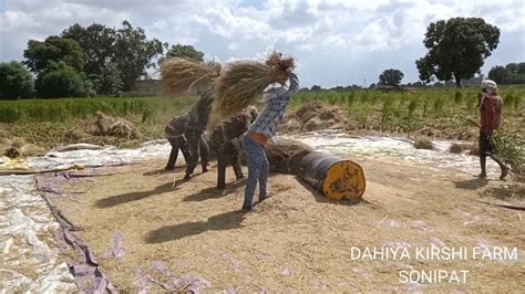
[[[219,62],[290,54],[301,86],[368,86],[387,69],[401,70],[409,83],[419,81],[428,25],[454,17],[481,17],[501,29],[485,75],[525,62],[525,0],[0,0],[0,62],[21,61],[30,39],[75,22],[128,20],[148,38],[192,44]]]

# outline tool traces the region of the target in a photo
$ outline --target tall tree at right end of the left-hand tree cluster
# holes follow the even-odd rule
[[[163,53],[163,48],[157,39],[147,40],[144,29],[134,29],[127,21],[122,27],[116,31],[112,62],[122,73],[124,91],[130,91],[136,80],[147,76],[147,69],[156,66],[153,60]]]

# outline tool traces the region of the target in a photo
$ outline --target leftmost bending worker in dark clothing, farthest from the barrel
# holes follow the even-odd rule
[[[172,145],[172,151],[169,153],[169,159],[167,160],[166,170],[172,170],[175,168],[175,162],[177,161],[178,157],[178,149],[184,156],[184,160],[186,162],[191,160],[192,155],[188,151],[188,146],[186,138],[184,137],[184,130],[186,129],[187,124],[187,115],[181,115],[173,118],[164,129],[166,133],[166,138]]]

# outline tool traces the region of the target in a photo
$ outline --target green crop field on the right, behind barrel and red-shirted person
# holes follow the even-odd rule
[[[428,88],[415,93],[309,92],[295,96],[291,108],[320,99],[346,108],[348,116],[364,129],[412,133],[431,127],[440,130],[441,137],[469,139],[476,134],[475,128],[459,115],[477,117],[477,88]],[[502,127],[524,135],[525,87],[507,86],[500,93],[504,99]]]

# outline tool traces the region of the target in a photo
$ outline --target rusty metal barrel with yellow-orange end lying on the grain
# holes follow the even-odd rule
[[[366,189],[361,166],[352,160],[322,153],[305,156],[297,176],[332,200],[359,200]]]

